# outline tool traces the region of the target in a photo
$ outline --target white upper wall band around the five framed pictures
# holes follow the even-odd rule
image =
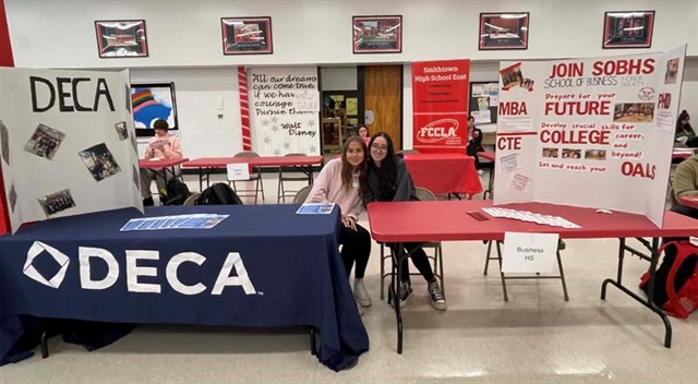
[[[652,50],[698,56],[695,0],[5,0],[16,67],[188,67],[541,59],[602,50],[604,11],[655,10]],[[480,12],[528,11],[529,49],[479,51]],[[353,55],[351,16],[401,14],[402,53]],[[224,56],[221,16],[272,16],[274,55]],[[96,20],[145,19],[148,58],[99,59]],[[625,53],[634,50],[623,50]]]

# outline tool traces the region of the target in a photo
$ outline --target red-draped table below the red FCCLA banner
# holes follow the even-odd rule
[[[405,163],[414,185],[435,194],[482,192],[474,159],[465,154],[406,154]]]

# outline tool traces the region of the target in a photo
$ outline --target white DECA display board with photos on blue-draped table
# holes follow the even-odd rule
[[[143,211],[129,72],[0,69],[0,148],[12,232],[24,223]]]

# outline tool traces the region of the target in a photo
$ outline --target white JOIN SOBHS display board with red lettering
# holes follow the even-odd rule
[[[661,226],[685,55],[502,62],[494,204],[622,211]]]

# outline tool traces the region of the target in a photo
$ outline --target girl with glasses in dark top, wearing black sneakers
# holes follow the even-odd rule
[[[368,206],[373,202],[406,202],[418,200],[414,191],[414,182],[407,170],[402,156],[395,155],[393,140],[385,132],[373,135],[369,145],[370,156],[366,177],[362,183],[363,203]],[[432,266],[429,263],[426,253],[421,248],[417,250],[419,243],[406,243],[405,248],[411,252],[412,263],[428,283],[428,291],[432,307],[437,310],[446,309],[446,298],[441,290],[441,286],[434,276]],[[393,252],[397,254],[395,247]],[[402,276],[398,276],[400,289],[397,292],[399,305],[407,304],[412,297],[412,285],[410,283],[409,263],[407,259],[402,262]],[[393,303],[395,303],[393,298]]]

